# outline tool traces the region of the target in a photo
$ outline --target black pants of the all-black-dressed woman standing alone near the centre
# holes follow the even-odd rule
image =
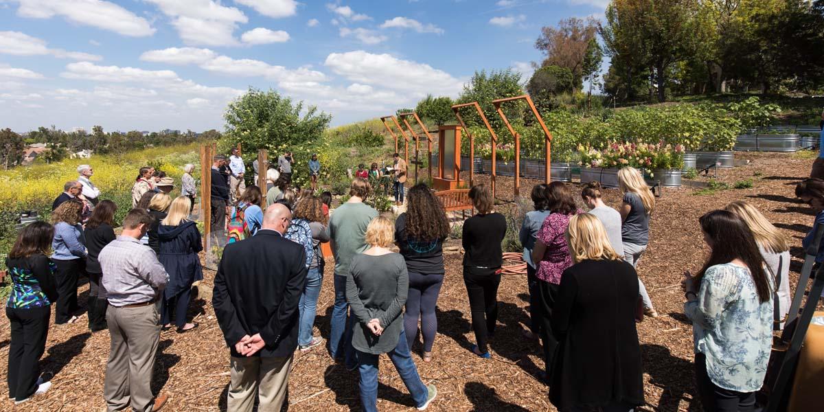
[[[498,268],[464,266],[464,283],[466,293],[469,294],[475,341],[478,342],[478,350],[485,353],[487,337],[495,333],[495,323],[498,321],[498,285],[501,283],[501,274]]]

